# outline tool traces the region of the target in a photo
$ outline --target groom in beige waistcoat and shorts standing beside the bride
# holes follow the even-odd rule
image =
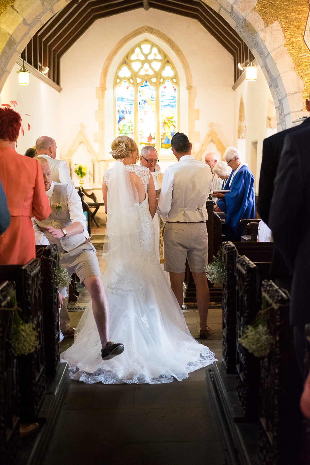
[[[165,170],[157,211],[165,221],[165,271],[170,273],[171,289],[182,308],[187,260],[197,288],[199,336],[206,339],[213,333],[207,325],[210,296],[205,273],[208,263],[206,201],[212,173],[209,165],[191,155],[191,148],[185,134],[174,134],[171,150],[178,163]]]

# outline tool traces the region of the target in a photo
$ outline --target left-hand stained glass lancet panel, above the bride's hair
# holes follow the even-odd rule
[[[133,87],[123,81],[116,87],[117,133],[134,137]]]

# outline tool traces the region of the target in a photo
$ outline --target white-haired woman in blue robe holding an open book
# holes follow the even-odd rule
[[[236,147],[225,150],[224,160],[232,169],[224,188],[230,192],[216,194],[218,207],[226,213],[225,240],[240,241],[240,219],[255,218],[254,176],[247,164],[241,162],[241,153]]]

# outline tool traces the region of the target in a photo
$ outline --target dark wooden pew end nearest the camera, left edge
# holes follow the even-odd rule
[[[0,307],[11,308],[15,283],[0,284]],[[0,463],[13,465],[20,449],[17,361],[7,342],[12,312],[0,310]]]

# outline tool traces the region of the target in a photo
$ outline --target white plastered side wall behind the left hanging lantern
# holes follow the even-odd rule
[[[30,131],[24,124],[25,135],[17,140],[17,152],[24,154],[27,148],[35,145],[38,137],[46,135],[56,140],[59,158],[60,94],[33,74],[30,74],[29,86],[20,86],[16,73],[19,69],[20,65],[14,65],[0,93],[1,104],[15,100],[21,116],[30,124]]]

